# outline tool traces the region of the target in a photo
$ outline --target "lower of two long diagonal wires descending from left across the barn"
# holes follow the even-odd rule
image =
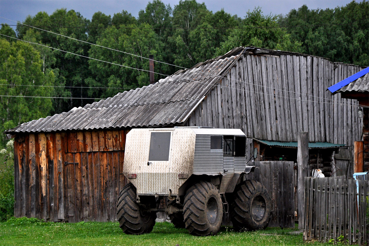
[[[135,68],[135,67],[129,67],[129,66],[124,66],[124,65],[121,65],[121,64],[117,64],[117,63],[112,63],[112,62],[107,62],[107,61],[104,61],[104,60],[99,60],[99,59],[95,59],[95,58],[91,58],[91,57],[88,57],[88,56],[83,56],[83,55],[79,55],[79,54],[75,54],[75,53],[72,53],[72,52],[68,52],[68,51],[63,51],[61,49],[56,49],[56,48],[53,48],[53,47],[49,47],[49,46],[46,46],[46,45],[42,45],[42,44],[38,44],[38,43],[34,43],[34,42],[30,42],[30,41],[25,41],[25,40],[21,40],[21,39],[18,39],[18,38],[14,38],[14,37],[10,37],[10,36],[7,36],[7,35],[4,35],[4,34],[0,34],[2,36],[5,36],[5,37],[8,37],[8,38],[13,38],[13,39],[17,39],[19,41],[23,41],[23,42],[27,42],[27,43],[30,43],[30,44],[36,44],[36,45],[41,45],[41,46],[45,46],[47,48],[50,48],[50,49],[55,49],[55,50],[58,50],[58,51],[62,51],[62,52],[66,52],[66,53],[70,53],[70,54],[73,54],[73,55],[77,55],[77,56],[81,56],[81,57],[84,57],[84,58],[88,58],[88,59],[93,59],[93,60],[98,60],[100,62],[106,62],[106,63],[110,63],[110,64],[113,64],[113,65],[117,65],[117,66],[122,66],[122,67],[127,67],[127,68],[131,68],[131,69],[135,69],[135,70],[139,70],[139,71],[145,71],[145,72],[150,72],[148,70],[144,70],[144,69],[138,69],[138,68]],[[162,73],[157,73],[157,72],[153,72],[153,73],[156,73],[158,75],[163,75],[163,76],[169,76],[169,77],[172,77],[172,78],[179,78],[179,79],[184,79],[184,80],[188,80],[186,78],[183,78],[183,77],[179,77],[179,76],[171,76],[171,75],[165,75],[165,74],[162,74]],[[227,77],[223,77],[225,79],[228,79]],[[191,80],[189,80],[191,81]],[[199,81],[192,81],[192,82],[196,82],[196,83],[201,83],[201,84],[207,84],[207,85],[210,85],[209,83],[204,83],[204,82],[199,82]],[[242,81],[241,81],[242,82]],[[245,83],[245,82],[243,82]],[[338,101],[338,100],[335,100],[335,102],[324,102],[324,101],[311,101],[311,100],[304,100],[304,99],[299,99],[299,98],[292,98],[292,97],[285,97],[285,96],[280,96],[280,95],[276,95],[276,94],[268,94],[268,93],[264,93],[264,92],[259,92],[259,91],[249,91],[249,90],[243,90],[243,89],[238,89],[238,88],[235,88],[235,87],[231,87],[231,86],[221,86],[221,85],[218,85],[218,84],[215,84],[214,86],[218,86],[218,87],[226,87],[226,88],[230,88],[230,89],[236,89],[236,90],[241,90],[241,91],[247,91],[247,92],[251,92],[251,93],[260,93],[260,94],[264,94],[264,95],[267,95],[267,96],[275,96],[275,97],[282,97],[282,98],[290,98],[290,99],[294,99],[294,100],[299,100],[299,101],[306,101],[306,102],[312,102],[312,103],[327,103],[327,104],[340,104],[340,105],[347,105],[347,106],[357,106],[358,104],[355,104],[355,103],[349,103],[349,104],[344,104],[342,103],[341,101]],[[286,91],[286,92],[289,92],[289,93],[295,93],[295,92],[292,92],[292,91]],[[307,95],[307,96],[311,96],[311,95]],[[21,97],[21,96],[20,96]],[[81,99],[81,98],[80,98]],[[86,99],[93,99],[93,98],[86,98]],[[105,98],[106,99],[106,98]],[[323,100],[329,100],[328,98],[324,98],[322,97],[321,99]],[[365,107],[365,106],[361,106],[361,107]],[[368,107],[369,108],[369,107]]]

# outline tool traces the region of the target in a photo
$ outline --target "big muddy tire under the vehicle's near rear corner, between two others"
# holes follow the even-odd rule
[[[223,219],[223,203],[217,187],[206,181],[190,187],[184,198],[183,217],[190,234],[216,235]]]

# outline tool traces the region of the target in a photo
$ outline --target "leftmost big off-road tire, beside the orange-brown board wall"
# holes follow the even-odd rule
[[[119,226],[124,233],[140,235],[152,231],[156,213],[142,211],[136,203],[136,188],[131,183],[121,191],[117,208]]]

